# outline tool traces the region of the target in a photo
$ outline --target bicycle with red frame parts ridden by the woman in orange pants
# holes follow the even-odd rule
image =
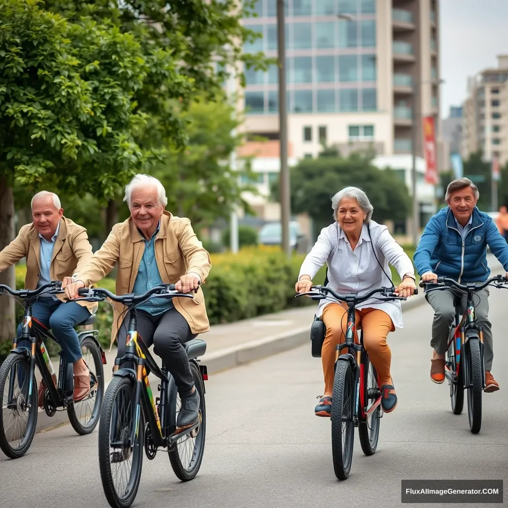
[[[377,449],[379,419],[383,418],[379,379],[363,346],[363,330],[358,340],[356,305],[368,300],[376,293],[383,296],[383,298],[377,297],[379,301],[405,300],[406,298],[397,296],[393,287],[374,289],[363,296],[358,296],[358,293],[340,295],[322,285],[312,286],[310,289],[311,291],[298,294],[296,297],[307,295],[312,300],[322,300],[327,297],[327,293],[330,293],[336,300],[347,303],[345,342],[335,347],[337,351],[347,350],[347,353],[339,353],[335,361],[331,414],[333,468],[339,480],[346,480],[353,462],[355,427],[358,427],[363,453],[370,456]],[[415,290],[416,294],[418,290]],[[324,331],[322,331],[321,345],[323,339]],[[311,330],[311,340],[312,356],[315,357],[317,356],[315,327]]]

